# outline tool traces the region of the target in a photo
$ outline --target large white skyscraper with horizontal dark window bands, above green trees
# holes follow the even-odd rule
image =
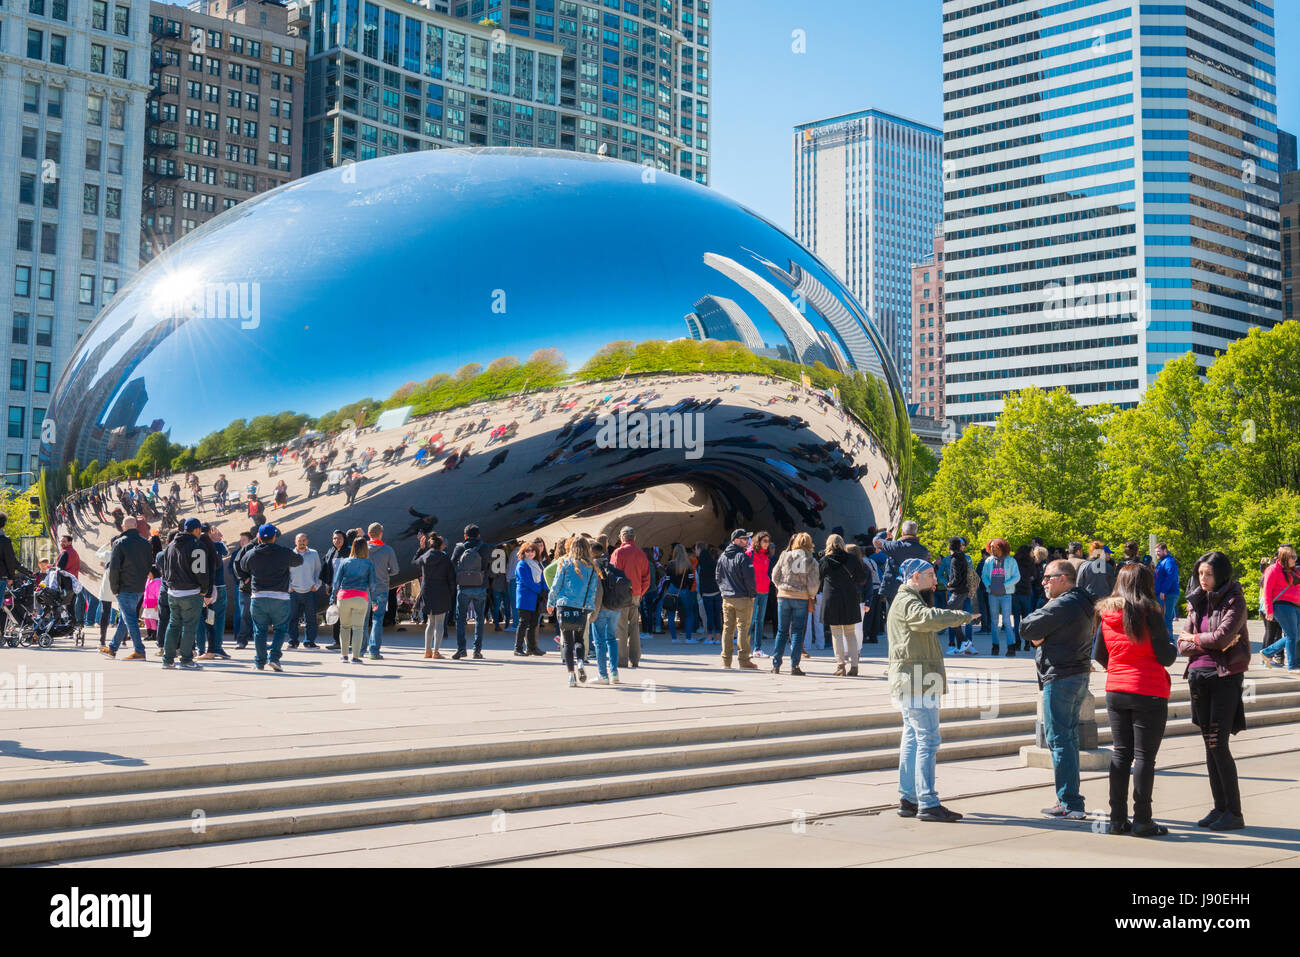
[[[945,0],[942,31],[952,419],[1132,406],[1282,317],[1268,3]]]

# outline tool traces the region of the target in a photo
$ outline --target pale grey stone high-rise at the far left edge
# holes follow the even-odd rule
[[[147,0],[23,0],[0,12],[3,481],[34,481],[53,382],[139,265]],[[55,423],[57,434],[58,423]]]

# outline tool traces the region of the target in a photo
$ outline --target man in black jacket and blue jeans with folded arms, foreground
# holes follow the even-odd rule
[[[1043,572],[1048,603],[1020,619],[1020,637],[1035,648],[1043,689],[1043,733],[1052,749],[1057,802],[1050,818],[1087,820],[1079,793],[1079,711],[1092,672],[1092,596],[1075,584],[1074,564],[1052,562]]]

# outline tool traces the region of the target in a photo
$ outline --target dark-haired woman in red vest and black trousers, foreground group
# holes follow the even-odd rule
[[[1158,837],[1169,828],[1150,817],[1156,754],[1169,720],[1169,666],[1178,651],[1156,601],[1156,579],[1141,563],[1126,564],[1109,598],[1097,602],[1092,657],[1106,670],[1110,715],[1110,833]],[[1134,817],[1128,822],[1128,775]]]

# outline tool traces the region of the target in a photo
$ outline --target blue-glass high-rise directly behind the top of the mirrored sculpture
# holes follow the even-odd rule
[[[447,146],[708,185],[710,0],[303,0],[306,170]]]

